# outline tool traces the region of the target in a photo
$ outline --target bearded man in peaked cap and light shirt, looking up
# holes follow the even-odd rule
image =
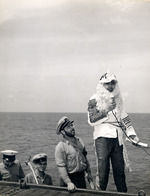
[[[57,134],[63,135],[63,140],[55,149],[55,161],[60,175],[60,186],[67,186],[74,192],[77,188],[86,188],[85,174],[92,181],[91,169],[83,141],[75,137],[74,121],[66,116],[57,124]]]

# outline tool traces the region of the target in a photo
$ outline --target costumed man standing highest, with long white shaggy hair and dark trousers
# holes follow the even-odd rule
[[[127,192],[125,166],[130,169],[123,132],[134,142],[139,138],[124,110],[116,76],[108,71],[99,80],[96,93],[88,102],[88,123],[94,127],[94,143],[97,155],[97,188],[106,190],[110,171],[118,192]]]

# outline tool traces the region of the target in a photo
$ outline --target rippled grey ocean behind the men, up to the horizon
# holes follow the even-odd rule
[[[46,172],[52,176],[53,184],[59,186],[54,151],[62,138],[61,135],[56,135],[57,122],[62,116],[74,120],[76,136],[81,137],[85,143],[95,178],[93,127],[89,126],[86,113],[0,113],[0,151],[6,149],[18,151],[17,159],[21,162],[25,174],[30,172],[30,168],[25,164],[29,156],[46,153],[48,156]],[[150,145],[150,114],[132,113],[129,116],[140,140]],[[132,172],[126,171],[128,192],[136,194],[144,190],[150,195],[150,148],[146,148],[149,154],[129,142],[126,142],[126,148],[132,169]],[[112,170],[107,191],[116,191]]]

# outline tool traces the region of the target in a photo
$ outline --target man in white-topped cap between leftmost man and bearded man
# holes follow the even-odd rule
[[[25,176],[25,182],[53,185],[51,176],[45,173],[47,167],[47,155],[45,153],[40,153],[33,156],[32,163],[34,164],[35,171],[33,170],[34,173],[31,172]]]

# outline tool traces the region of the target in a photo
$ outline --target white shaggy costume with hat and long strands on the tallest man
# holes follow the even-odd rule
[[[111,82],[112,80],[116,82],[116,86],[113,92],[109,92],[108,90],[105,89],[105,87],[103,86],[103,83],[108,83],[108,82]],[[115,101],[116,107],[113,111],[106,113],[106,106],[110,104],[112,100]],[[93,121],[90,120],[92,119],[92,115],[94,116]],[[96,88],[96,94],[94,94],[91,97],[88,103],[88,122],[91,126],[94,126],[94,133],[93,133],[94,140],[97,137],[101,136],[99,133],[99,127],[104,124],[110,124],[110,126],[117,129],[118,131],[119,144],[124,145],[123,131],[120,125],[118,124],[118,121],[122,124],[122,126],[126,127],[126,134],[128,136],[136,135],[132,127],[131,120],[128,114],[124,110],[123,100],[121,97],[117,79],[114,74],[107,72],[101,77],[97,85],[97,88]],[[130,170],[125,145],[123,149],[124,149],[123,154],[124,154],[125,164],[126,164],[126,167]]]

